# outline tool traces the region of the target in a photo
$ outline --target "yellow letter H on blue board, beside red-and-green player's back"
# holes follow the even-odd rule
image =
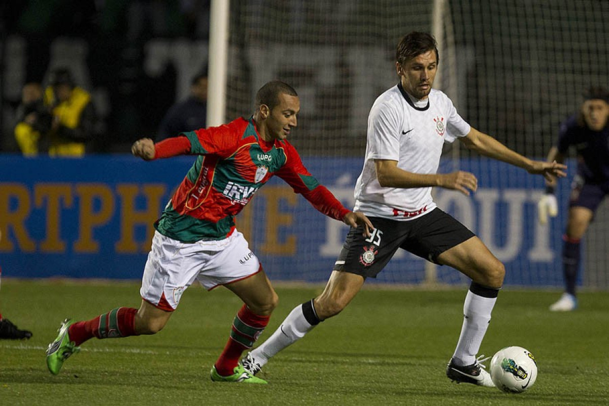
[[[161,214],[161,197],[165,193],[163,184],[147,184],[142,192],[148,203],[145,211],[136,211],[135,199],[140,187],[137,184],[119,184],[116,187],[121,197],[121,240],[114,245],[118,253],[138,253],[150,250],[150,241],[154,235],[154,222]],[[139,244],[135,240],[135,226],[146,227],[146,242]]]

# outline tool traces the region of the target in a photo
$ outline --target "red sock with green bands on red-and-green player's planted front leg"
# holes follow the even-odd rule
[[[216,361],[216,371],[222,376],[234,374],[234,367],[238,365],[241,354],[252,348],[264,327],[269,324],[270,316],[261,316],[252,313],[243,305],[233,321],[233,328],[227,345]]]

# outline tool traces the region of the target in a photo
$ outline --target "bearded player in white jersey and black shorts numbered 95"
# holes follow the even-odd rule
[[[321,295],[295,307],[277,331],[242,360],[250,373],[257,373],[277,352],[304,337],[320,321],[337,315],[365,279],[375,278],[402,248],[471,278],[462,331],[446,375],[457,383],[494,386],[477,352],[505,268],[474,233],[432,200],[433,186],[466,195],[477,189],[472,173],[437,173],[442,145],[459,139],[482,155],[548,179],[564,177],[566,166],[527,159],[465,122],[446,94],[432,89],[438,50],[428,33],[411,32],[402,38],[395,66],[400,83],[376,99],[368,116],[364,169],[354,192],[354,210],[371,220],[375,226],[372,236],[363,237],[356,229],[348,233]]]

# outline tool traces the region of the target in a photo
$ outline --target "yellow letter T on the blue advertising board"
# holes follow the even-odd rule
[[[72,187],[68,183],[38,183],[34,185],[34,204],[44,206],[46,200],[46,235],[40,243],[45,253],[63,253],[66,242],[62,240],[62,209],[72,207]],[[63,206],[62,206],[63,201]]]

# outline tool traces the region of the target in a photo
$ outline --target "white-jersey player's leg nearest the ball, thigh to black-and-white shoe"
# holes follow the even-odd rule
[[[438,256],[438,262],[461,271],[472,280],[463,304],[461,334],[451,361],[446,366],[446,375],[457,383],[494,387],[490,374],[484,370],[476,355],[503,284],[504,265],[478,237],[446,250]]]

